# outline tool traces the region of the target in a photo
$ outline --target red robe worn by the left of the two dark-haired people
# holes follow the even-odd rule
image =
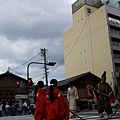
[[[46,118],[46,91],[39,88],[36,94],[36,106],[34,112],[35,120],[43,120]]]

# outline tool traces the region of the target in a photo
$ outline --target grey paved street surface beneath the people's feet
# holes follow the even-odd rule
[[[115,109],[113,109],[115,111]],[[77,113],[78,116],[80,116],[84,120],[106,120],[107,114],[104,113],[104,118],[100,118],[97,110],[93,111],[82,111]],[[117,111],[117,113],[112,117],[114,120],[120,120],[120,109]],[[7,117],[1,117],[0,120],[34,120],[33,115],[23,115],[23,116],[7,116]],[[80,118],[74,118],[69,120],[80,120]]]

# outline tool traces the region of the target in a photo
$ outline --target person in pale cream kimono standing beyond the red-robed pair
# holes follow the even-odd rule
[[[78,99],[78,92],[76,87],[73,86],[73,83],[69,83],[69,88],[67,92],[67,100],[69,102],[69,109],[76,110],[76,100]],[[73,113],[76,113],[75,111]],[[70,118],[75,118],[76,116],[70,113]]]

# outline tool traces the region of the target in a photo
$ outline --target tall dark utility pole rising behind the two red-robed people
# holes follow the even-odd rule
[[[46,66],[46,49],[41,49],[41,53],[44,57],[44,69],[45,69],[45,79],[46,79],[46,91],[48,91],[48,75],[47,75],[47,66]]]

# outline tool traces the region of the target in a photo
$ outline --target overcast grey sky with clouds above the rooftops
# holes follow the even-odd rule
[[[43,62],[40,49],[47,49],[50,79],[65,79],[63,33],[72,26],[71,5],[76,0],[0,0],[0,74],[8,68],[27,78],[30,62]],[[31,64],[34,82],[45,81],[44,66]]]

